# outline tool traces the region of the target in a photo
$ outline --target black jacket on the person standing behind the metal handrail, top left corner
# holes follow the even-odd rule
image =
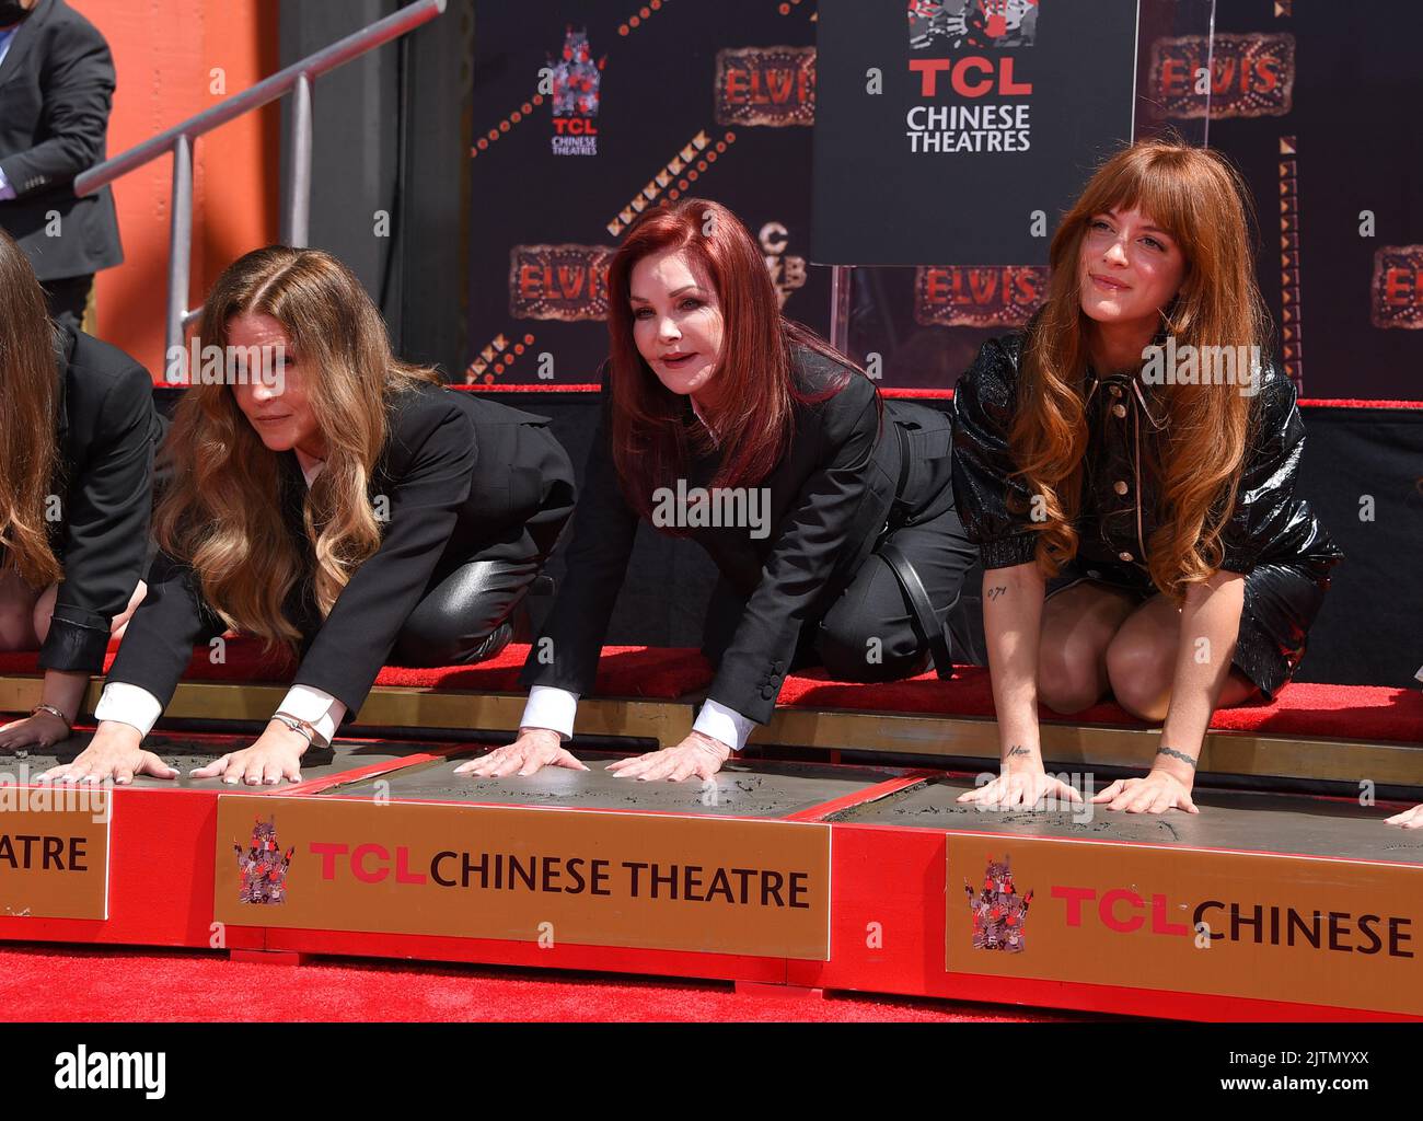
[[[0,63],[0,168],[16,192],[0,202],[0,226],[40,280],[124,259],[112,191],[74,193],[74,176],[107,158],[112,97],[104,36],[64,0],[40,0]],[[50,211],[60,213],[58,238],[46,236]]]

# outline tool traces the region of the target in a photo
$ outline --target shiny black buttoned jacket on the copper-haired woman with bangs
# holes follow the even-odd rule
[[[1025,337],[1016,331],[985,343],[953,394],[953,494],[985,569],[1027,563],[1037,543],[1029,488],[1013,477],[1007,450]],[[1147,542],[1160,524],[1150,471],[1165,418],[1161,390],[1136,377],[1097,377],[1090,368],[1084,386],[1090,437],[1077,560],[1144,573]],[[1285,563],[1326,576],[1343,552],[1309,504],[1295,498],[1305,425],[1294,383],[1269,361],[1254,404],[1235,511],[1221,535],[1221,568],[1249,573],[1258,565]],[[1009,509],[1009,494],[1017,496],[1013,505],[1023,514]]]

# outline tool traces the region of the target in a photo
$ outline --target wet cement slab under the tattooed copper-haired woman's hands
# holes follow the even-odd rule
[[[1130,841],[1191,848],[1348,856],[1423,865],[1423,831],[1383,824],[1392,811],[1355,802],[1289,794],[1198,791],[1200,814],[1123,814],[1093,805],[1084,811],[988,809],[955,799],[973,784],[962,778],[922,782],[868,805],[831,815],[855,825],[908,825],[1016,836]]]

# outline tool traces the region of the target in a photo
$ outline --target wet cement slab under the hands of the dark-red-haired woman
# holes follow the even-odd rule
[[[616,778],[605,767],[622,755],[586,753],[579,758],[588,771],[545,767],[518,778],[457,775],[454,768],[477,751],[453,755],[448,763],[414,765],[386,775],[393,801],[403,798],[440,802],[492,802],[497,805],[561,807],[569,809],[636,809],[710,817],[785,818],[832,798],[857,794],[905,774],[889,767],[825,767],[808,763],[733,763],[710,782],[639,782]],[[374,794],[374,780],[334,787],[326,794]]]

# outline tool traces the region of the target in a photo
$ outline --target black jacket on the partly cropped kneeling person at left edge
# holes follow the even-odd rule
[[[68,329],[58,334],[57,404],[60,468],[51,494],[61,516],[50,522],[50,546],[64,579],[40,666],[100,673],[114,616],[142,576],[162,423],[148,371],[122,350]]]

